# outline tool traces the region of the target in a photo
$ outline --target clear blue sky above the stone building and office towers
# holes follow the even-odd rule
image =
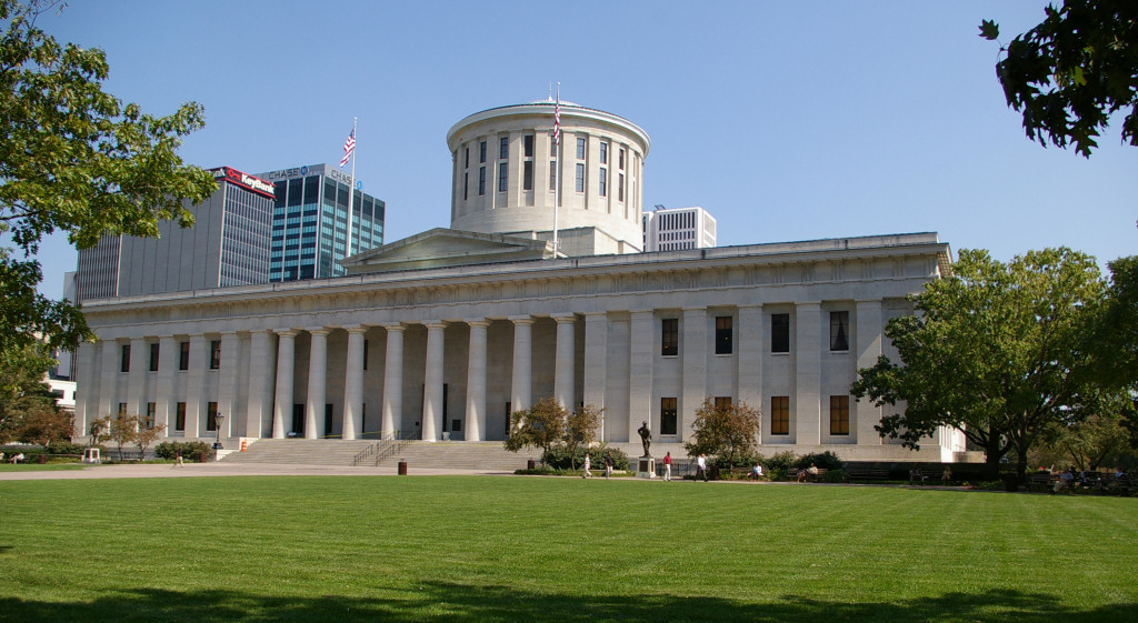
[[[703,206],[719,244],[935,231],[1000,259],[1138,252],[1138,148],[1113,127],[1089,160],[1029,142],[978,36],[995,19],[1007,42],[1045,1],[68,2],[40,25],[106,50],[110,93],[205,106],[188,163],[335,164],[358,116],[387,242],[450,224],[454,123],[560,81],[649,133],[644,205]],[[75,252],[56,236],[41,260],[58,297]]]

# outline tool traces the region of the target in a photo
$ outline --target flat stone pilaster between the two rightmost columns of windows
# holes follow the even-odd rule
[[[822,440],[822,305],[794,307],[794,443],[816,446]]]

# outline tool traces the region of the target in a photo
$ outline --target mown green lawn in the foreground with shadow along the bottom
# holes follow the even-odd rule
[[[1138,499],[547,477],[0,482],[0,621],[1138,621]]]

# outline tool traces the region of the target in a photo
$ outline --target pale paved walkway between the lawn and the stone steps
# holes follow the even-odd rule
[[[486,475],[505,474],[486,470],[432,470],[407,466],[407,475]],[[46,470],[0,472],[0,480],[82,480],[82,479],[154,479],[196,476],[394,476],[395,465],[382,467],[339,467],[333,465],[286,465],[249,463],[187,463],[181,467],[165,463],[141,465],[88,465],[82,470]]]

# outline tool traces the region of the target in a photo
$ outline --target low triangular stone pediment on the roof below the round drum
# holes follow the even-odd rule
[[[553,257],[552,244],[503,234],[436,227],[345,258],[348,274],[443,268]]]

